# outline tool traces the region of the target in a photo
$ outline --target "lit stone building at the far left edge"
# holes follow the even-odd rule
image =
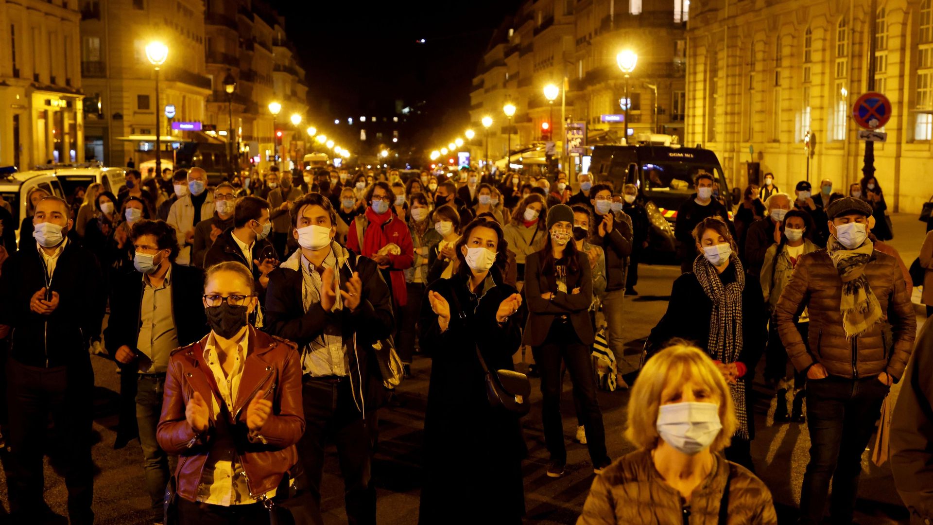
[[[77,0],[0,0],[0,165],[82,162]]]

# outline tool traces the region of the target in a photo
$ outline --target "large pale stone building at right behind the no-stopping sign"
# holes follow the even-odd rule
[[[782,191],[809,176],[847,193],[865,151],[853,106],[882,92],[892,116],[874,175],[889,209],[919,212],[933,193],[933,6],[876,3],[871,13],[870,0],[693,0],[686,142],[715,150],[733,186],[773,173]]]

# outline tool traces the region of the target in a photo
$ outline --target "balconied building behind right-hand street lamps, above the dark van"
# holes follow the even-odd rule
[[[494,33],[473,79],[470,121],[479,131],[470,145],[473,156],[485,154],[481,125],[485,116],[494,121],[489,129],[494,159],[503,159],[509,147],[527,149],[549,138],[542,133],[545,121],[558,155],[564,120],[587,124],[587,144],[618,144],[627,129],[630,136],[655,132],[682,138],[687,72],[683,4],[683,0],[522,4]],[[638,55],[629,78],[616,62],[621,50]],[[548,84],[565,88],[553,103],[544,96]],[[507,103],[517,108],[511,126],[503,113]],[[619,117],[626,103],[627,126]]]

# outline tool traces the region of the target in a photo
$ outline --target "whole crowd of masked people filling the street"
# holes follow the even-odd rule
[[[861,452],[915,332],[877,180],[849,196],[801,181],[791,197],[765,177],[732,210],[698,174],[675,222],[683,274],[643,353],[625,348],[623,299],[651,244],[646,203],[632,184],[577,183],[273,167],[211,187],[193,167],[130,169],[117,195],[91,184],[73,203],[34,192],[18,251],[0,254],[11,515],[52,514],[49,454],[69,518],[92,522],[89,356],[104,354],[120,372],[116,446],[139,438],[153,522],[321,523],[332,443],[349,521],[375,523],[379,411],[420,354],[421,523],[488,508],[521,522],[517,370],[540,377],[550,477],[567,471],[564,372],[573,385],[596,475],[579,523],[776,523],[751,456],[763,355],[775,421],[806,420],[814,444],[801,522],[820,522],[830,479],[833,519],[851,520]],[[613,363],[600,378],[597,340]],[[597,390],[633,380],[638,450],[613,461]],[[456,475],[452,450],[468,465]]]

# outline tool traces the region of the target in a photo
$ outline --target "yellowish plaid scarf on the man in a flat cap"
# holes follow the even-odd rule
[[[862,246],[847,249],[836,237],[830,236],[826,245],[829,259],[836,266],[842,278],[842,298],[839,310],[842,312],[842,327],[846,339],[852,339],[868,332],[871,326],[881,320],[881,305],[874,291],[871,291],[869,279],[865,278],[865,265],[871,260],[874,244],[865,239]]]

